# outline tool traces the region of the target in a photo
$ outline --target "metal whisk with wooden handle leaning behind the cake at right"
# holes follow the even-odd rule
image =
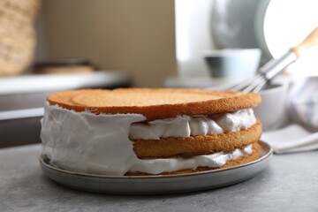
[[[318,27],[311,32],[307,38],[297,46],[289,49],[282,57],[271,59],[261,66],[258,74],[252,79],[246,79],[237,85],[223,87],[227,90],[237,90],[244,93],[260,92],[278,73],[282,72],[289,64],[295,62],[307,49],[318,45]]]

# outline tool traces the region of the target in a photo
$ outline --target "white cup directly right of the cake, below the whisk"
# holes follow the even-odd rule
[[[254,113],[260,118],[263,131],[276,130],[288,122],[287,94],[287,84],[269,85],[261,91],[261,105],[254,108]]]

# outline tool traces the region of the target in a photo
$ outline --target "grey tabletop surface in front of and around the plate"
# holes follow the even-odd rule
[[[0,149],[0,211],[318,211],[318,152],[273,155],[260,174],[196,193],[86,193],[42,174],[41,146]]]

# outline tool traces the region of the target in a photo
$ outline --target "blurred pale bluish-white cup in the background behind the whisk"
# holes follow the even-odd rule
[[[213,49],[203,52],[213,78],[246,79],[255,75],[260,49]]]

